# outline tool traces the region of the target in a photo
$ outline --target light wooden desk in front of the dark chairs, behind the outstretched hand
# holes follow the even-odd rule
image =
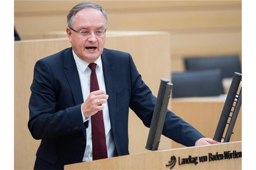
[[[175,98],[172,99],[172,111],[184,121],[199,130],[205,137],[213,138],[225,100],[226,95],[221,97]],[[241,110],[242,108],[238,114],[233,130],[234,134],[231,135],[230,141],[242,140]],[[227,127],[223,136],[225,136],[226,130]],[[172,147],[179,148],[184,146],[173,141]]]

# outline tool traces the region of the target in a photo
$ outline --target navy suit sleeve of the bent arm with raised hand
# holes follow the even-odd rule
[[[28,128],[33,138],[57,137],[85,128],[81,104],[56,112],[53,76],[44,60],[35,64],[30,90]]]

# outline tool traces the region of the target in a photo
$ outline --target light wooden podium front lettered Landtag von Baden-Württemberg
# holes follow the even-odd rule
[[[65,165],[64,169],[242,169],[242,141],[149,151]]]

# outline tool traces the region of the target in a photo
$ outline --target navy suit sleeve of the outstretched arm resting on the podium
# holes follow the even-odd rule
[[[130,108],[142,120],[146,127],[150,127],[154,112],[156,97],[153,96],[149,87],[141,79],[141,75],[130,56],[130,75],[131,75],[131,100]],[[181,143],[185,146],[195,146],[197,139],[204,137],[198,130],[167,110],[163,135]]]

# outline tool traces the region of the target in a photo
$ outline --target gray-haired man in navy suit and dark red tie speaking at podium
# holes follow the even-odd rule
[[[156,102],[130,54],[105,49],[107,16],[80,3],[67,16],[72,47],[37,61],[29,130],[42,139],[35,169],[129,154],[129,107],[149,127]],[[216,143],[167,112],[163,134],[186,146]]]

